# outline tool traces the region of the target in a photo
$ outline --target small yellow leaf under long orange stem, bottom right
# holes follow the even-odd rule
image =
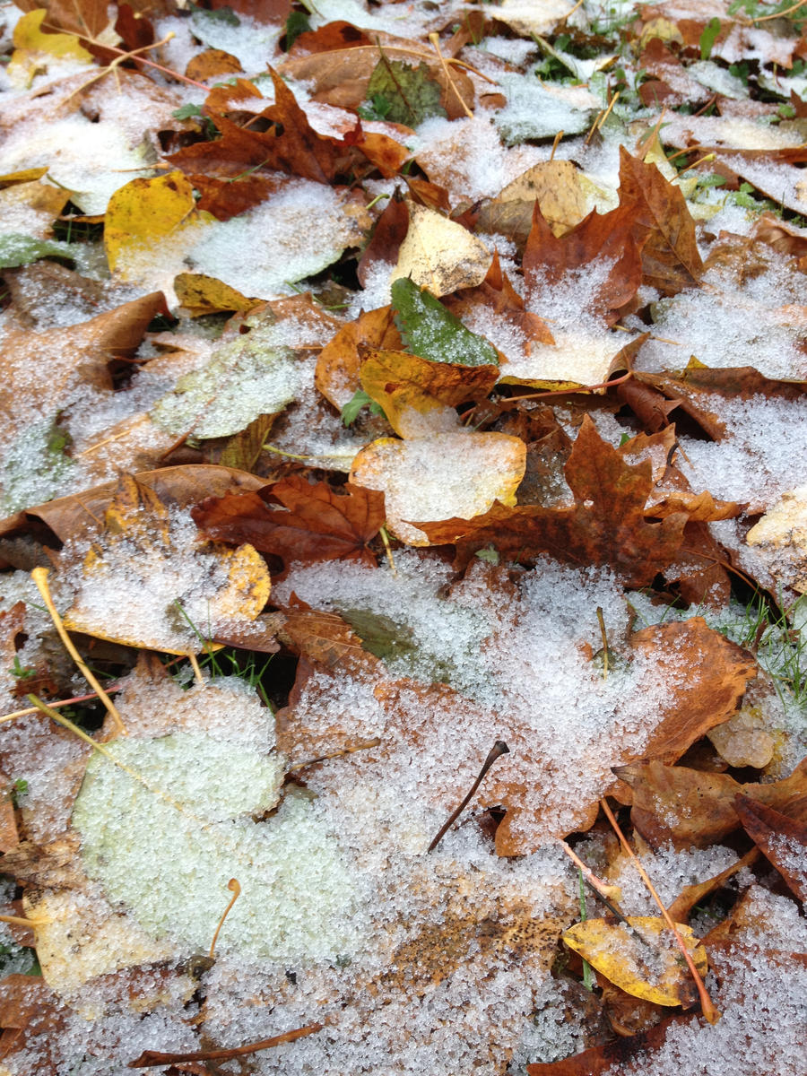
[[[676,923],[695,967],[706,975],[706,950],[692,928]],[[661,916],[628,916],[627,924],[586,919],[570,926],[563,939],[614,986],[656,1005],[689,1002],[693,982],[686,962]]]

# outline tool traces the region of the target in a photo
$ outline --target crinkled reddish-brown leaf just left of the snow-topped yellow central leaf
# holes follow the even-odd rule
[[[249,542],[285,562],[363,561],[376,564],[369,542],[384,522],[384,498],[360,486],[337,492],[293,475],[260,493],[208,497],[192,515],[207,538]],[[281,507],[282,506],[282,507]],[[247,537],[249,536],[249,537]]]

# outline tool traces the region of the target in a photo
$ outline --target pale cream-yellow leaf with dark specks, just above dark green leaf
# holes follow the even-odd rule
[[[423,206],[409,204],[409,230],[390,283],[411,277],[433,295],[481,284],[493,255],[467,228]]]

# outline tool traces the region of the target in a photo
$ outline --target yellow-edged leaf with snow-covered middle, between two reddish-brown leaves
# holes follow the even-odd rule
[[[520,438],[463,429],[409,441],[382,437],[357,454],[350,480],[383,491],[387,527],[396,538],[428,546],[413,523],[470,520],[496,500],[513,505],[525,467]]]

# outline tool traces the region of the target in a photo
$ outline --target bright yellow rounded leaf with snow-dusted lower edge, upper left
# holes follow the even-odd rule
[[[204,220],[182,172],[131,180],[107,208],[103,244],[110,269],[122,280],[154,284],[168,260],[182,264]]]

